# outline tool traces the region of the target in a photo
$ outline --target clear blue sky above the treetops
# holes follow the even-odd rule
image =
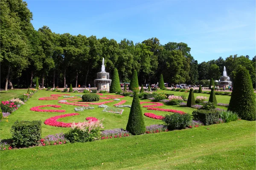
[[[134,43],[185,42],[199,63],[256,55],[255,0],[26,0],[36,30]]]

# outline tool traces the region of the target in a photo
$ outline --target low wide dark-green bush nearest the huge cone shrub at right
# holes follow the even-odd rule
[[[192,115],[195,121],[200,121],[204,125],[215,124],[219,121],[220,113],[217,111],[197,110],[193,111]]]

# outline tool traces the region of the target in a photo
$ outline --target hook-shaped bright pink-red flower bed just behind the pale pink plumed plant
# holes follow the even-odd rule
[[[64,123],[64,122],[57,122],[59,118],[68,117],[68,116],[75,116],[79,115],[79,113],[70,113],[70,114],[62,114],[58,116],[50,117],[44,121],[45,125],[55,126],[55,127],[71,127],[72,123]]]

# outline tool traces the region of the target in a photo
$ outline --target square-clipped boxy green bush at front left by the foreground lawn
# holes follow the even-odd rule
[[[13,145],[28,147],[38,144],[41,139],[41,120],[16,121],[12,125],[11,133]]]

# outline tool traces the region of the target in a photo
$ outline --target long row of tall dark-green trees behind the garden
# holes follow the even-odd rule
[[[1,88],[32,87],[35,77],[46,87],[93,86],[102,58],[106,71],[118,70],[121,82],[129,82],[137,70],[139,84],[157,83],[160,74],[165,82],[199,84],[204,79],[219,79],[226,66],[231,81],[239,67],[249,70],[255,87],[255,57],[229,56],[202,62],[190,54],[184,42],[160,44],[156,37],[134,43],[96,36],[56,34],[43,26],[33,28],[32,13],[22,0],[1,0],[0,62]]]

